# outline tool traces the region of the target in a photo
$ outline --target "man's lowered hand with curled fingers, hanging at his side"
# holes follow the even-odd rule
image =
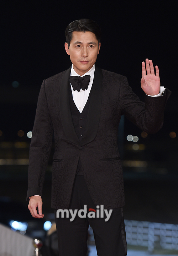
[[[41,196],[31,196],[30,197],[30,201],[29,201],[29,204],[28,204],[28,209],[30,210],[31,212],[31,215],[34,217],[34,218],[43,218],[44,217],[44,214],[42,214],[42,199],[41,199]],[[38,213],[37,213],[37,207],[38,207]]]

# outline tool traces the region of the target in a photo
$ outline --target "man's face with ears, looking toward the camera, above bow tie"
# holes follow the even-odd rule
[[[100,44],[92,32],[72,32],[72,40],[70,46],[65,43],[65,49],[70,60],[73,63],[73,68],[78,75],[82,76],[89,71],[95,64],[97,55],[99,54]]]

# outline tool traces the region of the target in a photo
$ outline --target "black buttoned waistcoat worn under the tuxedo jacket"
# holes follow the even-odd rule
[[[72,96],[72,90],[71,90],[71,86],[70,86],[69,87],[69,104],[70,104],[70,111],[72,114],[72,120],[73,120],[73,125],[75,128],[75,132],[76,132],[79,140],[81,141],[82,136],[85,131],[85,128],[86,128],[88,109],[89,109],[89,105],[90,105],[90,94],[89,94],[87,103],[85,104],[82,113],[80,113],[80,111],[78,110],[78,108],[76,107],[76,105],[74,103],[73,96]],[[80,159],[78,162],[76,175],[83,175]]]

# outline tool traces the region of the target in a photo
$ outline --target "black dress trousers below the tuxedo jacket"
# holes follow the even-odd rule
[[[92,208],[96,211],[89,194],[83,175],[76,175],[69,209],[84,209],[87,205],[87,213]],[[89,225],[93,229],[96,250],[98,256],[126,256],[127,244],[123,209],[112,210],[108,221],[104,218],[80,218],[76,215],[73,221],[69,218],[56,218],[57,210],[54,210],[58,234],[59,256],[86,256]],[[69,215],[70,217],[70,215]]]

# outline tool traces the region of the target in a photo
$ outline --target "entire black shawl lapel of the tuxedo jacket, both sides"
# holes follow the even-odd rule
[[[98,132],[99,119],[100,119],[100,110],[101,110],[101,100],[102,100],[102,82],[103,74],[102,70],[99,67],[95,67],[95,74],[93,85],[91,87],[91,98],[90,106],[87,115],[86,130],[82,137],[82,141],[78,139],[78,136],[75,132],[75,128],[72,121],[72,115],[70,111],[69,104],[69,76],[70,76],[71,67],[65,71],[62,81],[59,94],[59,107],[61,113],[61,121],[64,132],[67,138],[74,144],[84,146],[94,140]]]

